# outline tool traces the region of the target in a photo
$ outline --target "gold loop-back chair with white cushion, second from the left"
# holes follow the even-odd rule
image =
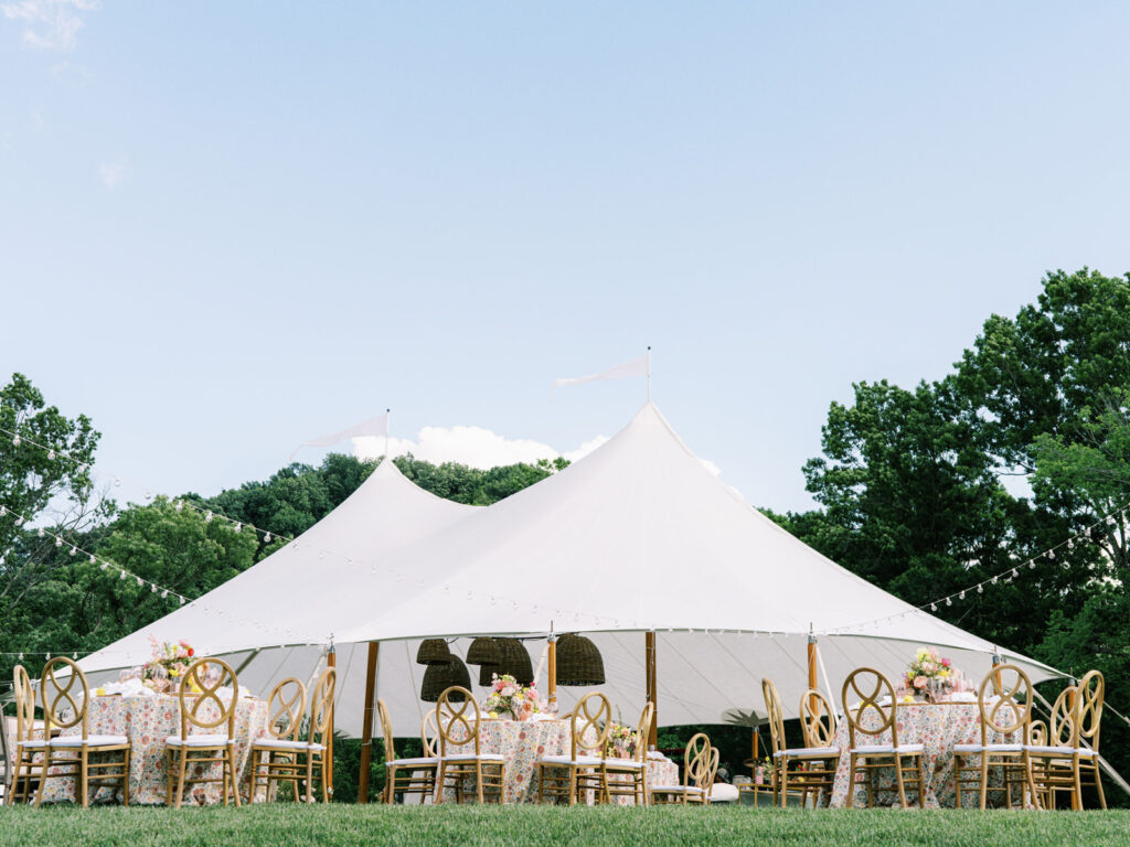
[[[90,687],[86,674],[66,656],[56,656],[43,666],[40,691],[43,765],[35,805],[43,802],[47,779],[61,776],[75,777],[75,797],[84,809],[90,805],[89,789],[103,786],[121,788],[122,805],[129,805],[130,742],[124,735],[90,734]],[[77,728],[77,733],[52,737],[54,728]],[[50,769],[54,772],[49,776]]]

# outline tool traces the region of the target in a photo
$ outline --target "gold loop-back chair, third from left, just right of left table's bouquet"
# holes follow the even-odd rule
[[[227,702],[219,696],[221,688],[232,690],[232,698]],[[235,784],[235,706],[240,698],[240,684],[235,671],[219,658],[197,660],[181,678],[177,698],[181,732],[165,739],[168,805],[180,809],[188,786],[219,783],[224,805],[227,805],[231,796],[238,809],[240,791]],[[195,732],[197,730],[203,732]],[[219,778],[210,776],[216,765],[220,766]],[[198,768],[202,776],[197,776]]]

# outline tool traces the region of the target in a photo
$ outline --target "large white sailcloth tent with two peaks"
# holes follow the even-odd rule
[[[438,499],[382,462],[294,542],[80,664],[97,680],[146,662],[150,635],[183,638],[266,693],[308,678],[332,643],[337,728],[367,739],[374,697],[398,727],[431,709],[415,662],[423,639],[446,639],[461,661],[475,637],[523,639],[545,695],[551,632],[591,639],[601,690],[628,719],[651,699],[657,726],[762,713],[763,676],[797,717],[810,632],[833,704],[853,669],[895,679],[923,645],[973,679],[994,655],[1033,681],[1062,675],[807,547],[711,473],[651,403],[584,459],[489,507]],[[588,690],[558,688],[562,710]]]

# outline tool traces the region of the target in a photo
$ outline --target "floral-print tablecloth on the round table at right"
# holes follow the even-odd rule
[[[868,726],[878,726],[881,723],[873,709],[868,709],[864,713],[863,719]],[[860,744],[890,743],[889,732],[864,737],[866,740],[857,737],[857,741]],[[1012,741],[1012,739],[1006,739],[993,730],[989,731],[988,739],[990,744]],[[847,805],[847,777],[851,768],[851,759],[847,754],[851,746],[847,736],[847,719],[844,717],[840,719],[834,743],[840,748],[840,763],[836,768],[836,780],[832,791],[831,805],[833,807],[844,807]],[[954,792],[954,745],[981,743],[981,711],[975,702],[899,704],[898,743],[922,744],[925,748],[923,770],[925,771],[927,809],[938,809],[940,806],[951,809],[956,800]],[[867,784],[861,781],[862,777],[859,774],[857,774],[855,778],[854,806],[859,809],[867,805]],[[892,767],[876,771],[875,785],[877,789],[894,788],[895,769]],[[897,791],[894,794],[877,791],[875,802],[876,804],[897,805]],[[916,789],[907,787],[906,802],[916,805]]]

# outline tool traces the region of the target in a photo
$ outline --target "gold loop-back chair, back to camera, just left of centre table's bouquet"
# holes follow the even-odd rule
[[[440,695],[435,705],[440,724],[440,772],[436,777],[435,802],[443,802],[449,780],[455,802],[462,803],[464,780],[475,780],[479,803],[487,792],[503,802],[506,784],[506,759],[502,753],[484,753],[479,734],[479,705],[475,695],[461,686],[452,686]]]

